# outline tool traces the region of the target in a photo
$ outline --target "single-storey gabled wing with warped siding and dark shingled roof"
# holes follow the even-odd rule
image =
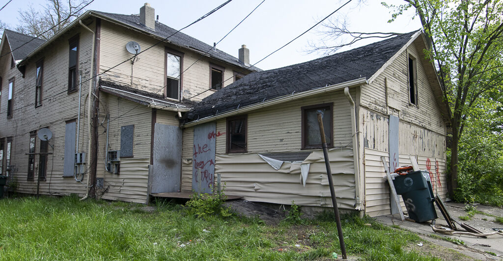
[[[444,198],[447,108],[424,49],[421,31],[402,34],[250,73],[204,98],[182,125],[182,191],[210,191],[219,173],[227,195],[331,206],[321,112],[340,208],[390,213],[380,156],[392,170],[415,156]]]

